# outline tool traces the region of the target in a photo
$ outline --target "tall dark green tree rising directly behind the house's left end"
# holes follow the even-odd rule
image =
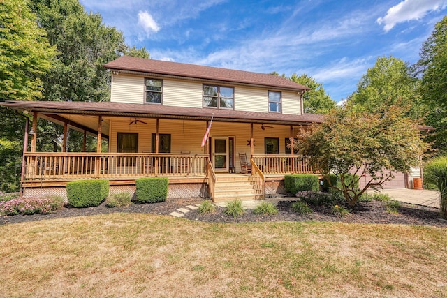
[[[47,31],[48,39],[59,50],[55,67],[44,82],[45,100],[108,101],[111,75],[103,64],[122,54],[149,58],[143,47],[124,43],[124,36],[115,27],[102,23],[98,13],[86,13],[78,0],[31,0],[38,23]],[[63,128],[45,130],[45,142],[55,145]],[[67,139],[81,143],[82,134],[68,131]],[[68,148],[73,148],[67,142]],[[89,144],[87,144],[89,146]],[[60,146],[59,146],[60,147]]]

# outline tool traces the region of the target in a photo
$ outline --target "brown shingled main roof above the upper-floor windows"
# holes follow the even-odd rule
[[[251,73],[243,70],[199,66],[138,57],[119,57],[105,64],[104,67],[112,70],[127,70],[154,75],[173,75],[176,77],[249,84],[295,91],[309,90],[309,88],[301,84],[297,84],[278,75]]]

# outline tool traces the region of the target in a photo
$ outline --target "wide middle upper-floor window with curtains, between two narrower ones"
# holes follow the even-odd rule
[[[235,107],[235,89],[215,85],[203,85],[203,106],[231,109]]]

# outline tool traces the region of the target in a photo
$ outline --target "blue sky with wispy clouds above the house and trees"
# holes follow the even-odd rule
[[[333,100],[356,90],[377,57],[410,64],[447,0],[80,0],[152,59],[307,73]]]

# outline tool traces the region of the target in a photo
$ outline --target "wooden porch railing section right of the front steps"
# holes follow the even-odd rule
[[[263,154],[254,155],[253,161],[263,174],[314,174],[308,156]]]

